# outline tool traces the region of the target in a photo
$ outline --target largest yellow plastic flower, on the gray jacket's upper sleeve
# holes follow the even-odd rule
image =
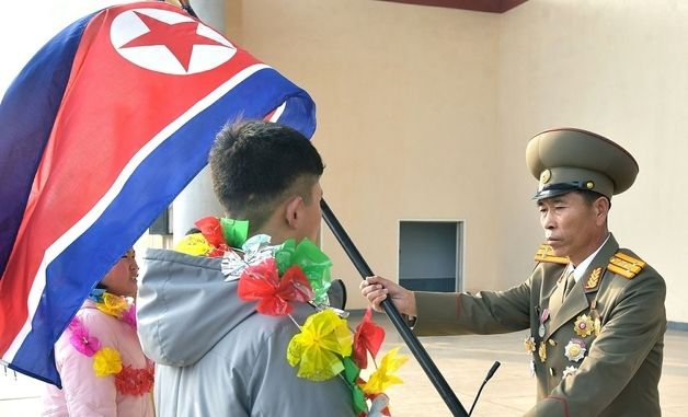
[[[287,346],[287,360],[298,375],[311,381],[325,381],[344,370],[342,357],[352,354],[352,334],[346,321],[332,310],[310,315],[301,333]]]

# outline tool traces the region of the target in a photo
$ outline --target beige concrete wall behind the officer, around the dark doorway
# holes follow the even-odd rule
[[[228,0],[228,34],[307,89],[325,198],[370,267],[394,278],[399,219],[466,221],[467,290],[507,288],[541,239],[531,135],[598,131],[631,151],[638,182],[614,199],[610,227],[681,294],[688,150],[688,2],[530,0],[505,13],[364,0]],[[358,276],[329,231],[323,248]]]

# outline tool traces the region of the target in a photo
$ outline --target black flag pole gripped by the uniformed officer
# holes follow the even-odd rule
[[[336,219],[334,212],[332,212],[330,206],[328,206],[324,199],[320,200],[320,207],[322,208],[322,218],[324,219],[325,223],[328,223],[328,227],[330,227],[330,230],[344,248],[344,252],[346,252],[346,254],[348,255],[349,259],[358,270],[358,274],[360,274],[360,277],[365,279],[366,277],[375,275],[372,274],[372,270],[360,255],[360,252],[358,252],[358,250],[354,245],[354,242],[352,242],[351,238],[348,238],[348,234],[346,233],[340,221]],[[442,375],[442,373],[437,369],[437,366],[435,366],[435,362],[433,362],[433,360],[431,359],[429,355],[427,355],[427,351],[425,350],[418,338],[413,334],[413,332],[411,332],[409,326],[406,326],[397,306],[390,301],[389,298],[382,301],[380,305],[382,305],[382,309],[385,309],[385,312],[387,313],[390,322],[392,322],[392,324],[401,335],[401,338],[406,343],[406,346],[409,346],[409,349],[421,364],[421,368],[423,368],[423,370],[427,374],[427,378],[429,378],[433,385],[435,385],[435,389],[447,404],[447,407],[449,407],[451,414],[455,417],[468,417],[466,408],[463,408],[457,396],[454,394],[454,391],[451,391],[449,384]]]

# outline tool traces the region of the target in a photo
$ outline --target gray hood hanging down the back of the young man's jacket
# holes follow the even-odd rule
[[[158,363],[195,363],[237,325],[255,314],[225,281],[221,258],[148,250],[137,297],[138,336]]]

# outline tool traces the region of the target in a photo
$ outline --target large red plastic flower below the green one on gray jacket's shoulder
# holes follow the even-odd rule
[[[279,277],[277,263],[271,257],[243,270],[239,278],[239,298],[257,301],[255,310],[261,314],[285,315],[294,310],[289,301],[308,302],[313,298],[313,290],[299,266],[288,268]]]

